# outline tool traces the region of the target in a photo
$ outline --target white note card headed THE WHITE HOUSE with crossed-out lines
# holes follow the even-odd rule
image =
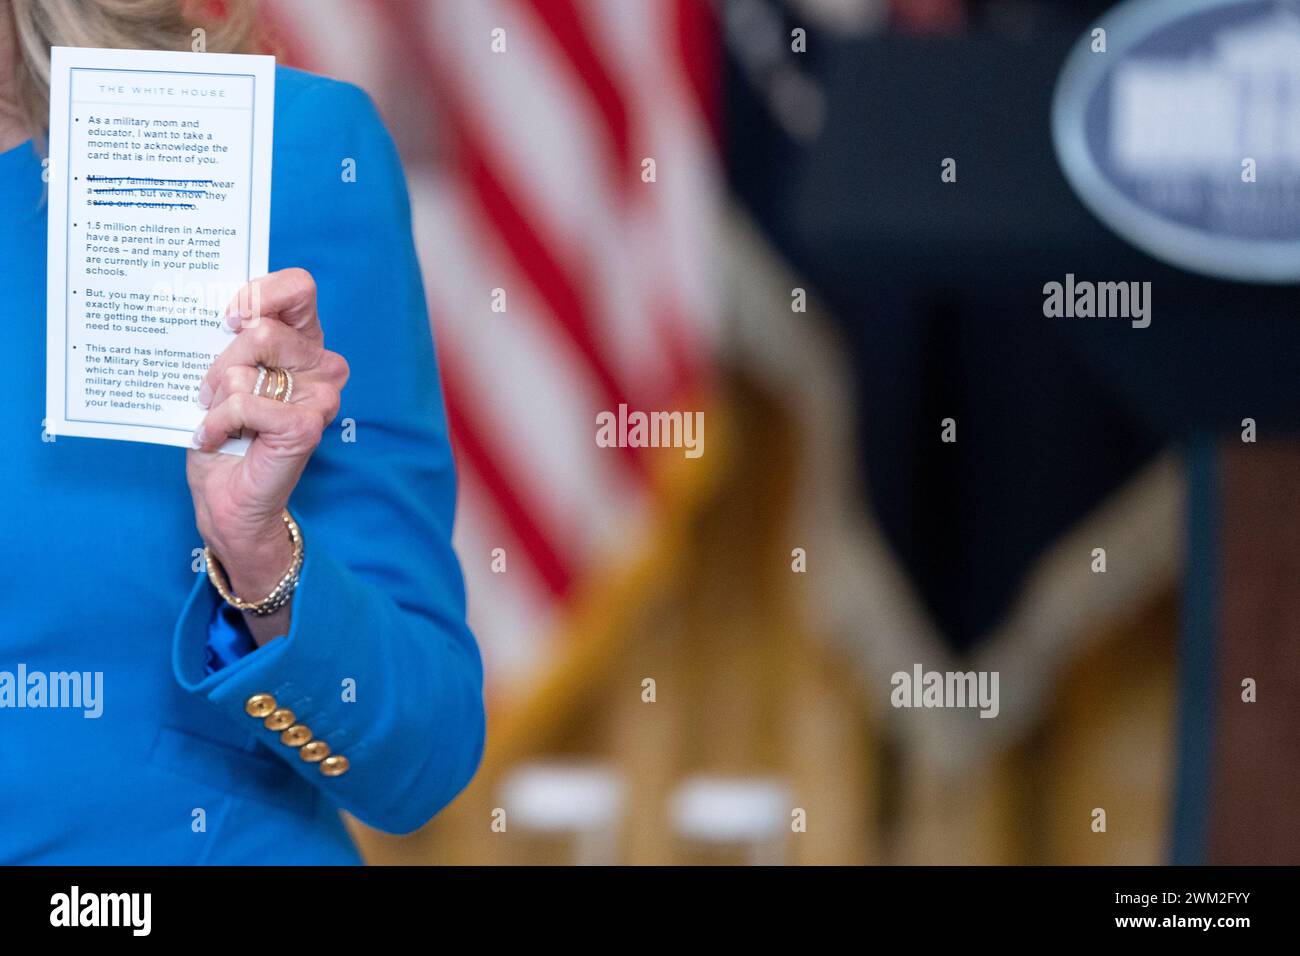
[[[268,268],[274,83],[270,56],[53,48],[51,434],[191,445],[225,307]]]

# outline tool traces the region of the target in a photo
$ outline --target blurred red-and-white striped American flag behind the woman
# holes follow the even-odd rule
[[[283,62],[361,86],[402,150],[471,624],[489,697],[515,697],[562,665],[575,596],[663,507],[655,453],[598,447],[597,414],[701,408],[710,393],[711,9],[266,0],[263,14]]]

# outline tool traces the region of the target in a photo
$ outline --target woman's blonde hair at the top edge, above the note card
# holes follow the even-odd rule
[[[10,0],[14,88],[32,135],[49,122],[49,48],[191,49],[191,31],[203,27],[212,53],[254,52],[254,0],[226,0],[220,21],[191,16],[183,0]]]

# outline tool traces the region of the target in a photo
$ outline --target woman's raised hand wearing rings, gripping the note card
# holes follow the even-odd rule
[[[316,282],[304,269],[254,280],[226,308],[226,321],[238,334],[199,389],[208,415],[194,433],[186,476],[195,524],[230,589],[244,601],[260,601],[292,559],[281,511],[338,414],[347,362],[325,349]],[[259,364],[292,373],[290,403],[252,394]],[[226,438],[242,429],[256,432],[247,454],[220,454]],[[290,606],[265,618],[246,615],[259,644],[287,631]]]

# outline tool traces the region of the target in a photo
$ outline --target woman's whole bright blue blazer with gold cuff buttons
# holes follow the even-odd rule
[[[212,674],[220,598],[196,561],[185,453],[51,441],[38,427],[40,172],[30,143],[0,153],[0,407],[13,410],[0,450],[0,862],[358,862],[339,808],[413,830],[468,783],[484,745],[455,475],[393,142],[356,87],[277,70],[270,268],[316,277],[325,342],[351,378],[290,501],[306,541],[291,630]],[[265,697],[347,771],[326,777],[250,715]]]

